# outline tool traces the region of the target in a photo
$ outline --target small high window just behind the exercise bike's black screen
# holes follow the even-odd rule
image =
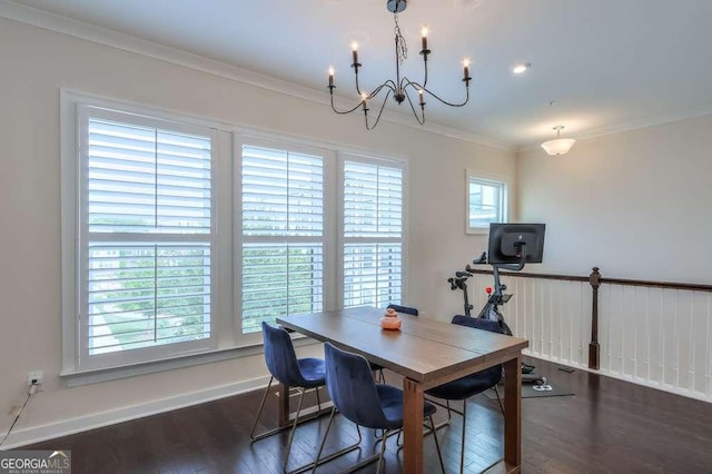
[[[467,170],[466,229],[477,234],[490,229],[490,223],[507,219],[507,186],[505,181],[483,178]]]

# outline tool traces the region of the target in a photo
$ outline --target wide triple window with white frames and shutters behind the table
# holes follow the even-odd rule
[[[254,354],[278,316],[400,302],[403,162],[70,91],[61,127],[70,386]]]

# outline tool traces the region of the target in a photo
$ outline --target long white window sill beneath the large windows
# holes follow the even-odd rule
[[[301,335],[294,337],[293,340],[295,347],[317,344],[317,340]],[[90,371],[62,371],[59,374],[59,377],[66,383],[67,387],[79,387],[82,385],[97,384],[100,382],[135,377],[137,375],[155,374],[158,372],[172,371],[176,368],[192,367],[201,364],[211,364],[221,361],[229,361],[233,358],[248,357],[263,353],[263,344],[259,343],[239,347],[201,352],[199,354],[187,354],[161,361],[122,365],[118,367],[97,368]]]

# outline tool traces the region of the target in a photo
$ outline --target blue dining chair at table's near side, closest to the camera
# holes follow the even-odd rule
[[[384,431],[376,467],[376,473],[380,473],[388,432],[403,428],[403,391],[392,385],[377,384],[370,373],[368,361],[358,354],[342,350],[330,343],[324,345],[324,353],[326,356],[326,387],[334,407],[316,456],[315,470],[319,464],[334,416],[338,411],[356,426]],[[441,446],[433,424],[433,414],[436,409],[435,405],[425,402],[423,417],[429,422],[441,467],[445,472]]]

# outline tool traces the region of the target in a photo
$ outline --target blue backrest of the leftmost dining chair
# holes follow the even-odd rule
[[[281,327],[273,327],[263,322],[265,340],[265,363],[269,373],[283,384],[290,387],[304,386],[304,377],[297,364],[289,333]]]

